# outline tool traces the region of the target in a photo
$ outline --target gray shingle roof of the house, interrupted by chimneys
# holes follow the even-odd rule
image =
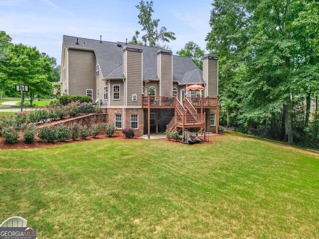
[[[77,44],[78,43],[78,44]],[[123,42],[108,42],[63,36],[63,46],[94,51],[104,78],[123,78]],[[143,50],[143,78],[158,79],[157,52],[160,48],[132,45]],[[204,83],[202,71],[189,57],[173,55],[173,81],[181,84]]]

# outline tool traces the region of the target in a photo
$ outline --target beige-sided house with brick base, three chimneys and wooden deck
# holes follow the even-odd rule
[[[218,57],[203,71],[157,47],[63,36],[61,93],[87,95],[108,122],[136,135],[170,130],[218,133]],[[202,91],[189,90],[197,84]],[[188,89],[188,90],[187,90]]]

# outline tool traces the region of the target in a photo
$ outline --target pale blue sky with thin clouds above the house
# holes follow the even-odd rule
[[[146,2],[146,0],[144,0]],[[175,33],[173,54],[188,41],[206,48],[212,0],[153,0],[152,18]],[[140,0],[0,0],[0,30],[12,43],[35,46],[61,64],[63,35],[125,42],[138,23]]]

